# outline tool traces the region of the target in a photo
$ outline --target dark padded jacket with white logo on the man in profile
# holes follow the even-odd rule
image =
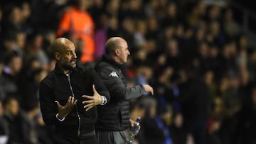
[[[129,99],[144,93],[142,85],[127,87],[122,65],[103,55],[102,61],[95,65],[95,71],[110,92],[109,104],[98,109],[96,129],[100,131],[124,131],[129,128]]]

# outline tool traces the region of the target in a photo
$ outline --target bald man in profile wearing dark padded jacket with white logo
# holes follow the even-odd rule
[[[97,138],[100,144],[123,144],[127,143],[126,131],[132,124],[128,100],[142,96],[144,92],[154,94],[154,91],[148,84],[127,87],[121,70],[130,55],[126,40],[110,38],[105,44],[105,52],[95,70],[109,90],[111,101],[98,109]]]

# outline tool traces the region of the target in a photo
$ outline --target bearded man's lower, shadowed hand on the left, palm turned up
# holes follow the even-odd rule
[[[55,101],[55,103],[58,106],[58,118],[62,119],[65,118],[65,116],[68,116],[68,113],[72,111],[75,104],[77,104],[78,100],[75,99],[73,96],[68,97],[68,101],[65,104],[65,106],[61,106],[58,101]]]

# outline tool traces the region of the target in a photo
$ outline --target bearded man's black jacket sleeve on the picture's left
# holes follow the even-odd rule
[[[51,92],[53,84],[51,84],[50,79],[46,77],[40,84],[39,89],[39,100],[40,108],[43,116],[43,121],[46,125],[53,125],[58,122],[56,114],[58,113],[57,106],[51,97]]]

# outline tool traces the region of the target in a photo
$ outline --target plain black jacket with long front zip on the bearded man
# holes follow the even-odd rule
[[[107,101],[110,101],[110,93],[95,70],[90,67],[77,66],[70,70],[69,77],[70,81],[68,75],[60,72],[56,65],[55,70],[41,81],[39,95],[43,121],[46,125],[55,125],[56,131],[64,135],[79,135],[79,133],[82,135],[94,131],[97,107],[85,111],[83,108],[85,104],[82,104],[82,101],[86,99],[82,98],[82,95],[93,96],[92,84],[95,84],[97,92],[105,96]],[[78,99],[78,103],[64,121],[59,121],[56,118],[58,107],[54,101],[59,101],[62,106],[65,106],[68,97],[73,95]]]

